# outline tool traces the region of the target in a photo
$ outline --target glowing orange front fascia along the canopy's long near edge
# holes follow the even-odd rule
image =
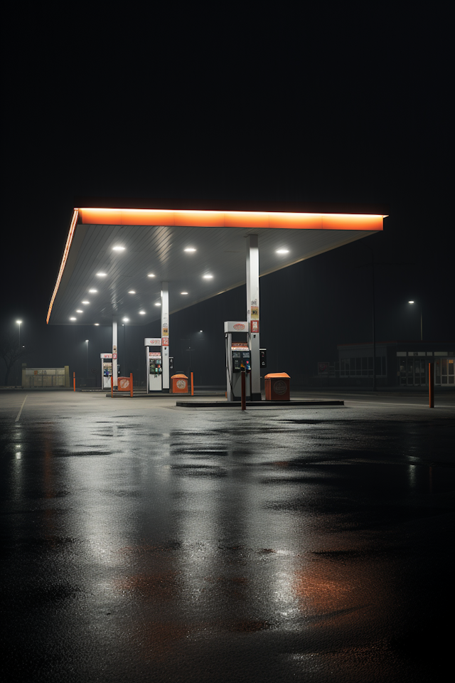
[[[382,230],[382,214],[284,213],[272,211],[185,211],[161,208],[79,208],[84,225],[188,226],[201,228],[294,228]]]

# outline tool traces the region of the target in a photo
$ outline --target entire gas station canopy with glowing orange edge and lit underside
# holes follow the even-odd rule
[[[384,207],[80,201],[48,310],[50,324],[146,324],[245,284],[247,235],[259,275],[382,231]],[[120,206],[120,208],[119,208]]]

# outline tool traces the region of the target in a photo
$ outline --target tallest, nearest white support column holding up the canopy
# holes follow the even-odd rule
[[[259,245],[257,235],[247,243],[247,322],[251,351],[251,398],[261,400],[261,359],[259,354]]]

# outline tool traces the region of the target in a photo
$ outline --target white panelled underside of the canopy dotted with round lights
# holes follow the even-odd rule
[[[78,223],[60,272],[49,322],[102,325],[112,324],[112,316],[118,316],[119,319],[128,317],[129,324],[146,324],[160,317],[156,303],[160,300],[161,282],[168,282],[171,313],[242,285],[245,283],[245,238],[251,233],[259,235],[259,274],[263,276],[374,232],[358,228],[302,230]],[[124,249],[114,250],[114,247]],[[186,248],[196,251],[187,252]],[[277,250],[287,250],[287,253],[280,254]],[[90,293],[90,289],[97,292]],[[129,294],[132,291],[134,294]],[[71,317],[76,319],[70,321]]]

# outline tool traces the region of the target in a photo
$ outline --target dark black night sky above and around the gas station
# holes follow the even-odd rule
[[[424,339],[455,338],[444,16],[15,19],[1,326],[23,319],[29,366],[82,372],[90,336],[90,366],[109,350],[106,331],[45,325],[76,195],[385,203],[385,232],[365,240],[377,338],[418,338],[410,298],[423,302]],[[306,366],[370,341],[369,260],[360,241],[262,279],[262,343],[290,334]],[[223,349],[218,316],[242,317],[243,300],[235,290],[176,314],[171,334],[180,343],[205,322],[203,344]]]

